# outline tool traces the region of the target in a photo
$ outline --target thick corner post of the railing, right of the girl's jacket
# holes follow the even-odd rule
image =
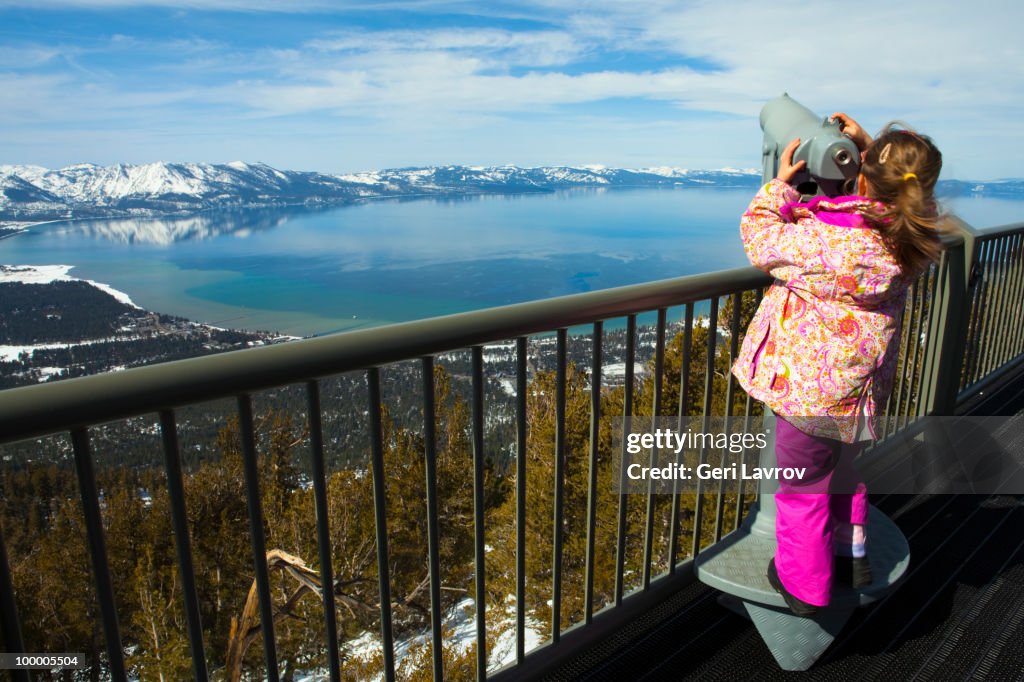
[[[952,415],[959,392],[967,323],[970,316],[969,273],[975,256],[974,230],[963,220],[954,219],[958,235],[943,254],[942,270],[936,286],[941,288],[941,305],[930,310],[929,363],[925,366],[930,380],[929,394],[923,396],[928,415]]]

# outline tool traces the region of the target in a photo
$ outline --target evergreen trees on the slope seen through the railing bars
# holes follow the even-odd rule
[[[756,307],[744,295],[724,299],[722,319],[745,329]],[[709,343],[709,325],[694,324],[689,334],[667,340],[664,367],[654,360],[638,375],[633,394],[623,385],[603,385],[597,428],[596,472],[590,470],[591,377],[584,368],[589,339],[570,337],[565,372],[564,438],[560,472],[562,500],[561,629],[583,621],[587,564],[589,480],[597,481],[594,518],[593,611],[615,599],[620,507],[625,513],[622,580],[626,593],[642,586],[645,536],[651,540],[651,576],[670,568],[674,496],[621,496],[614,492],[612,419],[627,400],[632,414],[700,415],[706,388],[711,414],[757,413],[742,391],[728,390],[731,342]],[[608,337],[624,332],[610,330]],[[641,328],[639,336],[652,334]],[[531,343],[534,341],[531,340]],[[542,340],[542,343],[546,343]],[[709,347],[715,355],[708,361]],[[609,344],[609,348],[617,344]],[[511,352],[511,351],[510,351]],[[605,363],[620,359],[609,351]],[[509,356],[511,357],[511,355]],[[531,359],[526,392],[525,592],[528,627],[550,639],[552,624],[552,553],[555,537],[556,373],[550,356]],[[468,353],[439,357],[434,370],[437,506],[441,599],[446,645],[445,678],[472,679],[475,644],[461,645],[452,628],[473,609],[474,489],[473,428],[469,400]],[[713,368],[711,377],[707,376]],[[487,365],[483,437],[485,467],[483,510],[487,647],[493,651],[514,628],[516,594],[516,430],[513,400],[502,391],[508,373],[502,358]],[[388,374],[389,373],[389,374]],[[681,379],[688,377],[681,395]],[[409,645],[398,664],[403,680],[431,676],[430,594],[427,507],[424,475],[422,389],[418,370],[389,369],[384,382],[382,442],[387,510],[388,566],[395,637]],[[323,382],[328,474],[328,524],[331,535],[336,616],[346,679],[373,679],[383,671],[379,647],[366,645],[380,631],[374,481],[369,466],[365,411],[365,375]],[[659,394],[655,396],[655,390]],[[419,392],[418,392],[419,391]],[[726,396],[732,404],[726,404]],[[253,554],[243,475],[238,418],[230,406],[217,403],[179,411],[185,465],[184,493],[195,560],[205,655],[214,679],[262,679],[262,639],[255,630],[247,599],[253,586]],[[256,399],[259,486],[271,592],[276,609],[274,632],[283,679],[327,668],[327,645],[319,587],[318,549],[307,416],[297,391],[283,388]],[[205,421],[202,414],[214,415]],[[197,425],[201,425],[197,426]],[[193,429],[193,427],[195,427]],[[191,431],[189,429],[193,429]],[[130,675],[141,680],[191,678],[190,650],[182,602],[170,501],[155,419],[137,418],[92,430],[94,462],[115,600]],[[202,433],[200,433],[202,431]],[[0,528],[10,562],[23,636],[28,650],[80,652],[89,660],[88,678],[105,677],[101,619],[87,550],[82,502],[67,439],[0,450]],[[27,450],[28,449],[28,450]],[[46,456],[40,455],[46,453]],[[125,453],[130,452],[128,456]],[[36,453],[33,457],[30,453]],[[679,535],[675,561],[686,558],[699,520],[699,543],[730,530],[743,511],[735,494],[714,488],[697,499],[678,499]],[[702,507],[698,510],[698,505]],[[648,531],[647,528],[650,528]],[[467,606],[468,604],[468,606]],[[471,615],[471,613],[470,613]],[[361,645],[359,643],[362,643]],[[43,679],[78,679],[71,671]]]

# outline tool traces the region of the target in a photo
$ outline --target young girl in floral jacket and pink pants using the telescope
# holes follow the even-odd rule
[[[940,252],[932,141],[888,126],[871,140],[850,117],[842,131],[861,151],[858,196],[799,202],[790,181],[800,144],[740,222],[751,262],[775,278],[732,368],[777,416],[780,467],[808,467],[775,496],[778,549],[768,580],[798,615],[828,604],[834,574],[871,582],[864,542],[867,494],[849,462],[892,388],[907,287]],[[839,479],[844,494],[829,494]],[[834,542],[835,539],[835,542]]]

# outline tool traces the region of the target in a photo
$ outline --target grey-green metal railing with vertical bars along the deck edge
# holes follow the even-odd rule
[[[977,386],[999,373],[1000,368],[1020,359],[1024,335],[1019,333],[1022,296],[1022,236],[1024,225],[1012,226],[979,235],[963,226],[963,238],[953,239],[940,264],[925,272],[910,292],[903,317],[901,351],[897,384],[888,406],[891,415],[908,417],[926,414],[951,414],[957,400],[963,401]],[[969,276],[970,273],[970,276]],[[612,632],[628,619],[657,603],[692,580],[687,562],[703,547],[728,532],[726,499],[723,491],[698,492],[692,518],[680,514],[679,496],[674,496],[669,518],[669,539],[666,569],[655,573],[652,551],[654,543],[654,496],[648,495],[643,528],[643,559],[639,584],[629,584],[625,576],[628,496],[621,496],[615,528],[615,574],[613,598],[606,605],[597,603],[594,594],[595,576],[595,514],[598,500],[598,431],[602,420],[602,340],[605,323],[625,317],[626,369],[624,375],[623,415],[632,416],[635,409],[637,377],[638,316],[656,313],[653,325],[651,376],[645,386],[652,391],[650,416],[662,415],[668,391],[678,391],[679,416],[686,416],[688,395],[694,381],[703,382],[701,406],[703,414],[713,410],[716,393],[724,382],[726,412],[750,416],[755,406],[741,392],[737,393],[731,375],[717,371],[716,358],[723,352],[731,363],[736,354],[741,329],[741,308],[744,301],[756,300],[771,279],[754,268],[738,268],[709,274],[680,278],[665,282],[597,291],[545,301],[522,303],[488,310],[445,317],[393,325],[378,329],[321,337],[287,344],[205,356],[166,365],[158,365],[58,383],[42,384],[0,392],[0,443],[13,442],[44,434],[71,434],[77,467],[82,509],[88,539],[89,556],[99,602],[105,638],[105,666],[113,679],[127,679],[122,631],[116,609],[101,505],[98,499],[90,429],[113,420],[157,414],[163,437],[164,469],[167,476],[170,509],[174,529],[177,568],[181,579],[182,599],[191,647],[193,671],[200,680],[208,679],[204,631],[196,587],[195,564],[188,535],[188,522],[183,487],[179,427],[176,411],[183,406],[215,398],[233,397],[239,416],[245,491],[256,590],[259,598],[263,655],[266,675],[278,679],[270,582],[266,562],[264,512],[262,508],[257,442],[253,426],[252,394],[255,391],[300,385],[307,400],[308,447],[315,498],[316,535],[319,570],[323,584],[333,584],[331,535],[328,519],[325,442],[322,415],[331,409],[322,404],[321,380],[343,372],[362,372],[369,387],[367,420],[371,434],[370,469],[373,476],[375,507],[377,571],[380,600],[380,640],[383,647],[384,676],[394,679],[396,660],[389,580],[389,532],[387,527],[388,500],[385,491],[384,449],[380,368],[399,360],[421,363],[422,435],[424,442],[424,477],[427,527],[424,542],[429,558],[430,641],[432,669],[435,679],[441,679],[442,622],[441,577],[439,569],[439,534],[437,501],[437,435],[435,434],[434,367],[435,356],[458,349],[471,350],[471,445],[473,479],[473,562],[474,601],[476,602],[476,677],[488,676],[486,602],[486,547],[484,514],[484,361],[485,344],[513,340],[516,353],[515,374],[515,488],[516,502],[516,594],[515,594],[515,663],[493,672],[495,678],[532,674],[566,656],[572,655],[598,638]],[[729,304],[732,313],[724,323],[719,319],[720,306]],[[666,335],[670,309],[681,309],[680,331],[682,355],[679,385],[665,385]],[[707,322],[702,322],[707,315]],[[697,319],[695,321],[695,317]],[[580,623],[564,627],[561,623],[563,597],[563,511],[565,459],[565,404],[567,375],[568,330],[590,326],[592,355],[590,364],[590,442],[587,491],[587,527],[585,550],[585,610]],[[707,325],[705,366],[694,367],[693,339],[695,330]],[[526,551],[524,532],[526,518],[526,440],[529,357],[527,338],[532,335],[555,335],[555,438],[551,457],[554,461],[553,538],[551,557],[551,643],[528,652],[524,645],[526,612],[524,606]],[[699,370],[699,371],[698,371]],[[736,410],[735,406],[742,406]],[[620,415],[614,415],[620,416]],[[716,500],[717,496],[717,500]],[[708,498],[708,500],[706,500]],[[705,504],[706,501],[717,501]],[[735,508],[729,509],[731,526],[739,522],[743,505],[740,492]],[[714,518],[706,519],[706,514]],[[705,535],[710,520],[714,531]],[[684,547],[689,536],[689,546]],[[4,641],[8,650],[24,650],[14,588],[11,584],[7,551],[0,535],[0,610]],[[634,587],[636,589],[634,589]],[[331,589],[323,590],[323,612],[327,641],[328,667],[332,679],[340,677],[338,623],[336,604]],[[30,616],[31,617],[31,616]]]

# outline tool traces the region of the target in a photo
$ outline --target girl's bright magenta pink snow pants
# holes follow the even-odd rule
[[[867,523],[867,487],[853,468],[861,445],[808,435],[781,417],[775,423],[777,466],[807,467],[803,480],[779,480],[775,567],[790,594],[826,606],[833,529],[839,523]]]

